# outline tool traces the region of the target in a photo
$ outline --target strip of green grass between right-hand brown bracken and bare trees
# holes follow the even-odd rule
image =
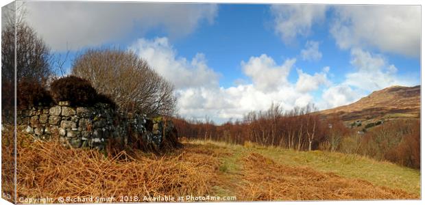
[[[224,166],[222,169],[230,174],[238,175],[241,172],[243,166],[238,161],[243,156],[258,153],[280,165],[308,168],[324,173],[330,172],[347,179],[365,180],[371,182],[374,186],[401,189],[406,193],[420,195],[420,170],[385,161],[375,161],[365,156],[319,150],[298,152],[289,149],[256,146],[253,143],[247,143],[245,146],[215,141],[190,141],[188,143],[213,149],[226,148],[232,154],[221,158],[222,166]]]

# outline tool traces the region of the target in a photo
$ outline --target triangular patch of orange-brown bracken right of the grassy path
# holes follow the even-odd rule
[[[365,180],[348,179],[308,167],[280,165],[261,154],[243,158],[243,199],[267,200],[377,200],[417,199],[401,190],[376,187]]]

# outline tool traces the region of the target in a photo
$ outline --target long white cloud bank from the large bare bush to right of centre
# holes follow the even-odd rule
[[[252,83],[240,80],[237,85],[225,88],[219,86],[219,74],[208,67],[202,53],[192,59],[180,57],[167,38],[141,38],[129,49],[175,85],[180,115],[197,120],[208,116],[219,123],[242,118],[249,111],[267,109],[272,102],[280,103],[284,109],[304,107],[313,102],[307,91],[323,84],[328,72],[324,68],[323,72],[310,75],[298,69],[300,82],[317,84],[295,85],[288,81],[288,75],[296,59],[276,64],[273,58],[263,54],[241,61],[243,74]]]

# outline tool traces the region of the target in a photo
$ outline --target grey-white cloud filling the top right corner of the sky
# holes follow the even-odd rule
[[[420,53],[420,5],[339,5],[330,33],[341,49],[378,48],[416,57]]]

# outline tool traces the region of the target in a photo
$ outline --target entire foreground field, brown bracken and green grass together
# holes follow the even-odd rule
[[[127,151],[114,157],[64,149],[54,141],[25,143],[17,153],[18,197],[51,197],[54,202],[63,196],[113,196],[112,202],[147,202],[149,197],[162,201],[155,197],[165,195],[180,202],[217,201],[217,197],[225,201],[420,198],[419,170],[387,162],[253,143],[183,143],[184,148],[160,156]]]

